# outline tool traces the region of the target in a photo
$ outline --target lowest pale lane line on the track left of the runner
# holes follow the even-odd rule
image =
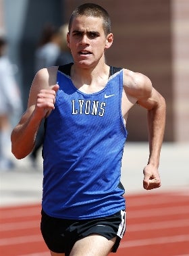
[[[20,245],[30,242],[42,242],[42,235],[36,234],[32,236],[17,236],[12,238],[0,238],[0,246],[5,245]]]

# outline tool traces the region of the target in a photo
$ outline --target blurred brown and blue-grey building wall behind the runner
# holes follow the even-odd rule
[[[18,66],[24,108],[34,78],[34,51],[45,24],[68,22],[88,1],[0,0],[0,31]],[[112,20],[113,46],[107,63],[141,72],[167,102],[165,141],[189,141],[189,0],[89,1],[105,7]],[[127,125],[130,141],[146,141],[146,111],[136,105]]]

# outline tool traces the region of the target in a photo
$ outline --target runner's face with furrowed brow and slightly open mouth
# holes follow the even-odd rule
[[[97,17],[78,16],[68,34],[68,47],[74,63],[89,67],[98,63],[113,42],[113,34],[105,36],[103,20]]]

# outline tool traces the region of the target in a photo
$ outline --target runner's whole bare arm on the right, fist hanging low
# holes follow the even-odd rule
[[[161,186],[159,177],[159,157],[165,130],[165,99],[158,93],[146,76],[133,74],[132,82],[127,88],[128,94],[148,111],[149,158],[144,168],[143,186],[153,189]]]

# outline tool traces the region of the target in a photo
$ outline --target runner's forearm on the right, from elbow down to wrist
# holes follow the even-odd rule
[[[149,159],[148,163],[159,166],[159,157],[163,135],[165,130],[165,99],[159,96],[159,103],[156,107],[148,110],[148,136],[149,136]]]

